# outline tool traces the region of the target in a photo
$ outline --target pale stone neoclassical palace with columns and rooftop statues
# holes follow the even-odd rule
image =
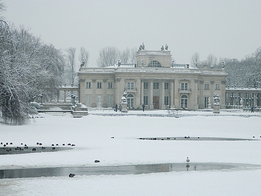
[[[136,64],[112,67],[80,67],[79,100],[87,107],[114,108],[122,93],[127,92],[127,107],[146,109],[188,109],[208,107],[213,104],[213,93],[220,96],[220,109],[225,109],[224,69],[203,69],[188,64],[171,62],[171,51],[137,52]],[[100,104],[100,103],[99,103]]]

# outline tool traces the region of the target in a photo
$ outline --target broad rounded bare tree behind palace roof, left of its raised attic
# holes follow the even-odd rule
[[[102,48],[96,60],[98,67],[113,66],[120,57],[120,51],[116,47]]]

